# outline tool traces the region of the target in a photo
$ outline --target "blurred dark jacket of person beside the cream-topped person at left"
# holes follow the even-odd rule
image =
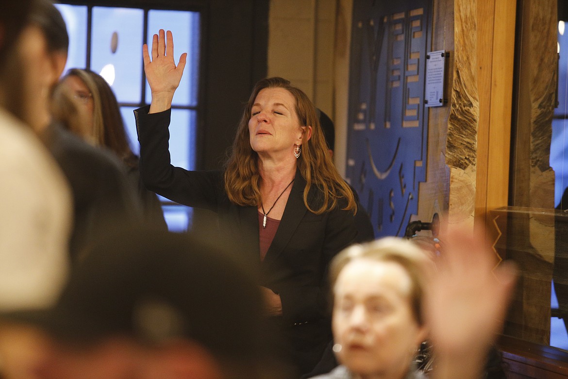
[[[123,164],[109,151],[89,145],[57,124],[43,136],[73,194],[73,263],[117,227],[141,220],[141,206]]]

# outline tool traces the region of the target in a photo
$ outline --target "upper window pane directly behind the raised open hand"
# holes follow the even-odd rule
[[[199,63],[199,13],[187,11],[151,10],[148,12],[148,43],[152,48],[152,36],[158,30],[171,30],[174,36],[174,60],[179,61],[187,53],[183,77],[174,95],[173,105],[197,105],[198,63]],[[152,100],[148,82],[146,102]]]

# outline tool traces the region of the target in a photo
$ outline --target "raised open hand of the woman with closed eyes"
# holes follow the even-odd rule
[[[187,53],[174,61],[174,39],[172,32],[160,29],[152,38],[152,60],[148,53],[148,45],[142,48],[144,72],[152,91],[152,103],[149,113],[168,110],[172,106],[174,93],[178,88],[187,59]]]

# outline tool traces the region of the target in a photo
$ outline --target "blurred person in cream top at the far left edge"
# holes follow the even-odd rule
[[[70,191],[28,126],[49,81],[31,7],[0,2],[0,310],[55,301],[68,270]]]

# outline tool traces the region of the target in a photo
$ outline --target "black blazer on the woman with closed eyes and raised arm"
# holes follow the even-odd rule
[[[303,353],[314,356],[306,363],[306,369],[313,368],[331,336],[329,261],[348,245],[368,239],[358,234],[353,212],[341,206],[320,215],[308,211],[303,200],[306,181],[296,172],[278,230],[261,263],[257,207],[231,203],[220,171],[188,171],[170,164],[170,111],[148,114],[144,107],[135,115],[144,184],[172,201],[216,212],[219,231],[215,238],[256,269],[260,285],[280,295],[282,328],[295,351],[314,346],[315,352]],[[308,198],[311,206],[318,205],[316,189]]]

